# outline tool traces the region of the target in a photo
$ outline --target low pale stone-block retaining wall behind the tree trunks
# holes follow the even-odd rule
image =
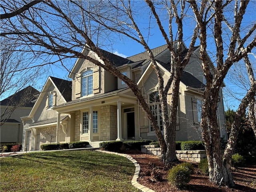
[[[161,150],[157,145],[142,145],[141,152],[146,154],[152,154],[161,156]],[[178,159],[200,162],[202,158],[206,158],[205,150],[188,150],[188,151],[176,151]]]

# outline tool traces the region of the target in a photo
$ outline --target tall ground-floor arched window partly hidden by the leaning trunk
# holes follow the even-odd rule
[[[150,102],[150,110],[153,113],[153,115],[156,118],[156,121],[158,123],[158,126],[160,130],[163,129],[163,118],[162,118],[162,109],[161,109],[161,104],[160,104],[160,99],[159,99],[159,92],[153,92],[152,94],[149,95],[149,102]],[[154,128],[152,125],[150,125],[150,132],[153,132]]]

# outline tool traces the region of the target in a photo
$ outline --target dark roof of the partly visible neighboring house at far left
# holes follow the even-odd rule
[[[1,106],[33,107],[34,103],[32,103],[32,101],[36,99],[34,96],[39,93],[40,92],[32,86],[28,86],[2,100],[0,104]]]

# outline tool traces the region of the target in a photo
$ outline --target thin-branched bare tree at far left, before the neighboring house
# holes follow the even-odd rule
[[[1,64],[0,64],[0,98],[10,95],[1,101],[1,125],[4,124],[18,107],[31,107],[29,104],[38,94],[32,86],[39,77],[41,68],[26,69],[30,62],[25,52],[19,52],[18,43],[1,37]],[[25,89],[26,88],[26,89]],[[35,98],[34,98],[35,99]]]

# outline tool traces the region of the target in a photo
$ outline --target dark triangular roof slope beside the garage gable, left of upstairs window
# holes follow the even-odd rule
[[[72,81],[51,77],[52,81],[66,100],[66,102],[71,101],[72,99]]]

